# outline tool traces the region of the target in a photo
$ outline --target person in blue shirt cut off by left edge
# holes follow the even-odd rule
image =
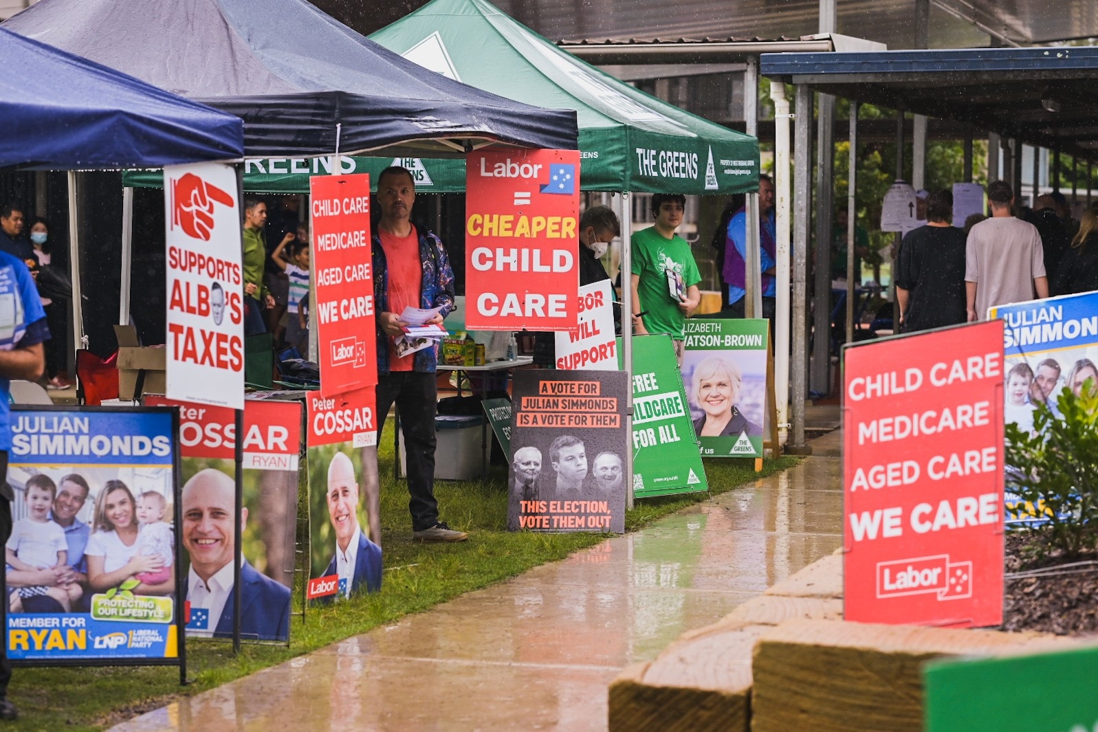
[[[0,211],[3,213],[3,211]],[[10,214],[10,212],[8,212]],[[3,218],[3,216],[0,216]],[[26,263],[0,251],[0,542],[11,537],[11,502],[15,494],[8,485],[8,451],[11,450],[11,380],[37,381],[46,369],[45,349],[49,339],[46,312]],[[8,663],[8,633],[0,641],[0,720],[19,717],[8,700],[11,664]]]

